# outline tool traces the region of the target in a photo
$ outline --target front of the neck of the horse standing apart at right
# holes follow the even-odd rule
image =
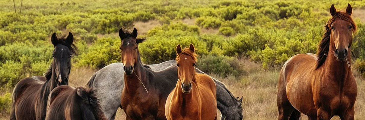
[[[338,61],[336,55],[334,54],[334,51],[336,50],[336,47],[334,45],[333,40],[330,40],[330,47],[328,51],[328,55],[326,58],[326,61],[324,62],[323,71],[325,74],[330,75],[331,77],[334,76],[334,78],[338,79],[344,79],[349,74],[352,74],[351,71],[351,50],[347,50],[347,60],[345,61]],[[348,63],[347,63],[348,62]]]

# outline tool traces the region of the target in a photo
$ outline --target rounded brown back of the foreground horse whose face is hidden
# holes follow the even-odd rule
[[[58,86],[54,88],[47,102],[46,120],[65,120],[66,100],[74,90],[70,86]]]

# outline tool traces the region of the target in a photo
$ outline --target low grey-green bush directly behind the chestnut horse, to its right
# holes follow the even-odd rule
[[[197,62],[197,68],[209,74],[240,76],[246,74],[244,66],[237,58],[222,55],[203,55]]]

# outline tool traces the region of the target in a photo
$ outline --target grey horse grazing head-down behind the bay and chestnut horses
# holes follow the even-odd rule
[[[147,67],[148,66],[148,67]],[[88,87],[97,89],[97,96],[103,108],[105,117],[114,120],[116,111],[120,107],[120,96],[124,86],[123,63],[112,63],[94,73],[88,81]],[[159,64],[146,65],[153,71],[161,71],[173,67],[177,70],[176,61],[169,60]],[[197,73],[205,74],[195,68]],[[212,78],[212,77],[211,77]],[[217,88],[217,106],[221,112],[221,120],[242,120],[242,98],[236,98],[219,80],[212,78]]]

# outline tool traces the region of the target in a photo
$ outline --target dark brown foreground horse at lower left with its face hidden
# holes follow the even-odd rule
[[[107,120],[96,91],[58,86],[48,96],[46,120]]]

